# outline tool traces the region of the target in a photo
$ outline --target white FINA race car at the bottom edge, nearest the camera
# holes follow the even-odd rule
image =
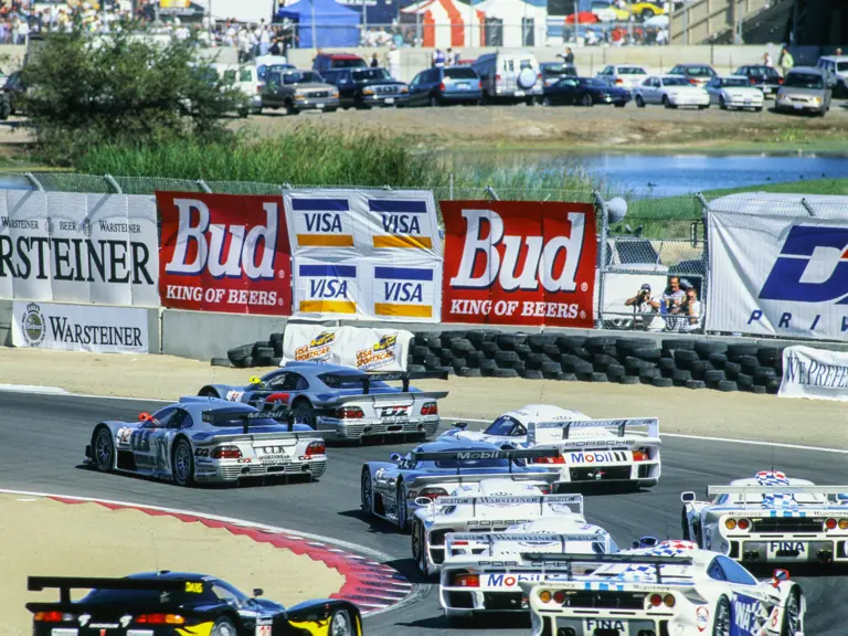
[[[533,636],[803,636],[806,602],[789,573],[757,581],[690,541],[593,556],[539,554],[565,573],[522,583]],[[577,568],[584,570],[576,573]],[[587,570],[587,571],[586,571]]]

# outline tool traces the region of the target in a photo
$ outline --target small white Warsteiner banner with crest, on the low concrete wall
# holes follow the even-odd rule
[[[12,344],[93,353],[147,353],[147,310],[15,300]]]

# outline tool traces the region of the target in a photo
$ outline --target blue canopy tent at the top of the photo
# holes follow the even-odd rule
[[[359,46],[362,15],[336,0],[298,0],[277,9],[277,18],[297,22],[300,49]]]

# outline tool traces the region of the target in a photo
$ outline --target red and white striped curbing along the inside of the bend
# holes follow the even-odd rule
[[[306,554],[314,561],[320,561],[328,568],[337,570],[344,577],[341,590],[330,595],[330,598],[343,598],[356,604],[363,616],[385,612],[404,601],[413,591],[413,585],[400,572],[369,559],[368,556],[349,552],[332,543],[316,540],[316,537],[215,515],[203,515],[186,510],[174,510],[158,506],[109,501],[92,497],[68,497],[44,492],[28,492],[21,490],[0,489],[0,492],[45,497],[62,504],[99,504],[109,510],[131,509],[152,517],[168,516],[186,523],[203,523],[208,528],[223,529],[233,534],[248,537],[258,543],[271,543],[276,548],[290,550],[295,554]],[[354,544],[339,542],[342,545]]]

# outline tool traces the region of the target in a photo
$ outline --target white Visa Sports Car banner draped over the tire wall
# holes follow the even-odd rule
[[[362,371],[406,371],[412,332],[403,329],[286,325],[283,362],[330,362]]]

